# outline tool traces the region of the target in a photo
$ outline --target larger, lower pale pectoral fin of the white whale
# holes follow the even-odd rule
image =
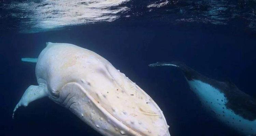
[[[30,85],[28,89],[24,92],[16,107],[14,108],[12,117],[14,118],[14,113],[18,107],[26,107],[30,102],[45,96],[48,96],[46,84],[40,83],[39,86]]]

